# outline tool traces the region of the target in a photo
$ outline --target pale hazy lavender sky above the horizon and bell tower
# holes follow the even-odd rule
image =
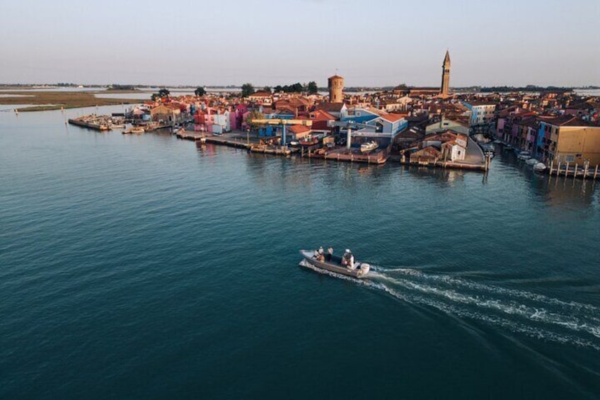
[[[600,85],[599,0],[0,0],[0,84]]]

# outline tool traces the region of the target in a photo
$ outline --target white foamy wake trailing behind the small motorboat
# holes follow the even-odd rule
[[[319,273],[356,282],[392,297],[445,314],[484,321],[546,341],[600,350],[600,307],[565,302],[524,290],[486,285],[413,268],[371,267],[358,280],[301,263]]]

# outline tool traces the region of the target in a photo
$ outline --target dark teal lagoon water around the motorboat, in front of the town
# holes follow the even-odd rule
[[[0,113],[0,398],[600,393],[598,182],[64,125],[96,111]]]

